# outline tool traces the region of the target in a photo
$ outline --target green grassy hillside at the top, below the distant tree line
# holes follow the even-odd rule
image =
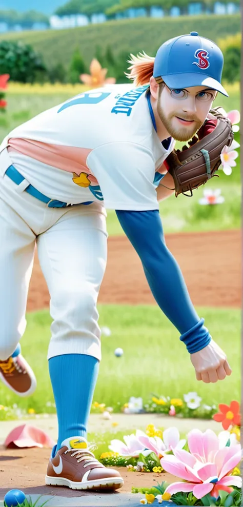
[[[76,47],[80,48],[87,65],[98,45],[104,51],[111,45],[115,56],[139,51],[155,56],[158,46],[165,40],[194,30],[217,43],[219,38],[240,32],[240,13],[122,19],[65,30],[3,33],[0,40],[21,40],[43,55],[47,67],[58,62],[68,67]]]

